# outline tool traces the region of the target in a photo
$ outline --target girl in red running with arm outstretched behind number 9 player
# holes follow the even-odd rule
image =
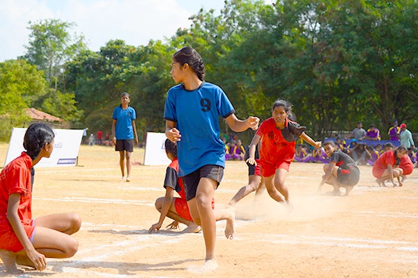
[[[260,164],[268,194],[277,202],[286,204],[288,209],[293,206],[289,202],[288,188],[284,184],[289,166],[295,156],[295,140],[298,137],[313,147],[320,147],[321,142],[315,142],[304,133],[306,127],[288,119],[291,104],[279,99],[272,107],[272,117],[265,120],[251,140],[247,162],[256,164],[256,145],[261,140]]]

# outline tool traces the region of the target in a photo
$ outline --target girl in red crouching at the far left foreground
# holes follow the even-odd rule
[[[46,124],[31,124],[24,135],[26,152],[11,161],[0,174],[0,257],[9,272],[21,272],[17,264],[44,270],[45,258],[69,258],[78,241],[76,213],[57,213],[32,219],[33,166],[49,158],[54,132]]]

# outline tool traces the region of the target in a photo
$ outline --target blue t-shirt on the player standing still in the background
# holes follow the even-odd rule
[[[132,128],[132,121],[137,118],[135,109],[131,106],[127,106],[123,109],[122,106],[114,108],[114,113],[111,116],[113,120],[116,120],[115,137],[118,140],[134,139],[134,130]]]

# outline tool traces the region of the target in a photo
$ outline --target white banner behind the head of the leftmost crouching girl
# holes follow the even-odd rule
[[[54,150],[52,151],[51,157],[42,158],[39,163],[36,164],[36,167],[75,166],[77,163],[79,147],[82,142],[83,130],[53,129],[53,131],[55,138]],[[24,152],[23,138],[25,132],[26,129],[13,128],[4,166],[8,165],[10,161],[13,161],[13,159]]]

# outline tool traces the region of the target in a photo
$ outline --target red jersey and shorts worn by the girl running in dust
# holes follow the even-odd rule
[[[288,126],[286,119],[285,129]],[[287,141],[272,117],[261,123],[256,134],[261,136],[260,163],[263,177],[272,176],[277,168],[289,170],[295,156],[295,142]]]

